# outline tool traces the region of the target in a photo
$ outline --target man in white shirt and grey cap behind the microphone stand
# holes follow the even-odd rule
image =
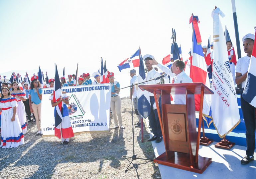
[[[130,81],[130,85],[138,84],[138,77],[136,76],[136,70],[132,69],[130,71],[130,76],[132,78],[131,81]],[[136,89],[137,86],[138,85],[133,86],[130,89],[130,99],[132,99],[135,114],[137,115],[137,117],[139,119],[139,122],[137,124],[135,124],[135,127],[141,127],[141,115],[138,111],[138,97],[137,97],[137,89]]]

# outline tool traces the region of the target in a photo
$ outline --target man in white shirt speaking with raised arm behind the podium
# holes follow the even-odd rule
[[[163,72],[173,78],[171,83],[193,83],[192,79],[184,72],[185,63],[182,60],[175,60],[171,66],[171,70],[158,63],[155,59],[150,61],[152,64],[157,65]],[[174,104],[186,104],[185,94],[174,95]]]

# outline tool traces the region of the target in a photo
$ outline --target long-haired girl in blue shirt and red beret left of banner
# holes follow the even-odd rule
[[[40,121],[41,121],[41,101],[42,101],[42,93],[43,90],[41,88],[41,84],[38,81],[38,76],[34,75],[31,78],[31,85],[29,90],[29,107],[30,112],[35,115],[36,118],[36,124],[37,124],[37,136],[42,136],[43,133],[41,131],[40,127]]]

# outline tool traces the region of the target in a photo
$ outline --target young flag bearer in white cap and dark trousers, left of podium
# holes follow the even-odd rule
[[[149,62],[150,60],[154,59],[154,56],[153,55],[144,55],[143,59],[145,61],[146,68],[148,69],[146,81],[160,77],[160,73],[158,73],[153,68],[153,64],[151,64]],[[149,81],[149,82],[147,82],[147,84],[152,84],[152,85],[160,84],[160,79]],[[157,97],[159,98],[159,96],[157,96]],[[160,143],[163,139],[163,135],[162,135],[161,126],[160,126],[160,122],[159,122],[159,118],[158,118],[154,94],[149,92],[149,98],[150,98],[150,104],[151,104],[151,112],[149,114],[149,124],[151,126],[152,133],[154,134],[154,136],[151,137],[148,141],[156,140],[156,143]]]

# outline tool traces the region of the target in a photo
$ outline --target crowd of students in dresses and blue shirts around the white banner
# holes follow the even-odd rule
[[[82,74],[75,79],[75,75],[68,75],[68,81],[61,77],[61,87],[75,86],[75,85],[95,85],[100,84],[100,74],[93,73],[94,81],[90,79],[90,74]],[[114,81],[114,73],[108,73],[109,82],[112,85],[111,93],[111,109],[114,118],[115,128],[122,125],[121,116],[121,99],[119,96],[120,85]],[[1,119],[1,147],[13,148],[24,144],[24,135],[27,132],[27,122],[35,119],[38,132],[36,136],[42,136],[41,130],[41,101],[42,88],[53,88],[54,79],[50,79],[48,84],[41,84],[38,76],[34,75],[31,78],[31,83],[24,81],[17,83],[16,81],[2,83],[1,98],[0,98],[0,119]],[[114,91],[118,90],[118,91]],[[69,96],[63,91],[59,101],[54,101],[53,94],[50,97],[52,107],[56,107],[60,102],[69,105]],[[69,138],[73,137],[73,130],[70,125],[69,113],[67,106],[64,105],[63,120],[61,122],[62,139],[64,144],[69,143]],[[118,125],[119,124],[119,125]],[[55,128],[55,136],[61,139],[60,125]]]

